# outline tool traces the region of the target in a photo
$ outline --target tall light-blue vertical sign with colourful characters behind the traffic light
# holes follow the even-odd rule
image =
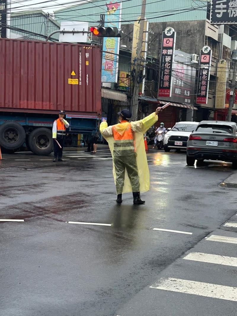
[[[121,27],[122,1],[111,0],[106,3],[105,27]],[[119,37],[105,37],[102,53],[102,82],[117,82],[118,80],[118,55]]]

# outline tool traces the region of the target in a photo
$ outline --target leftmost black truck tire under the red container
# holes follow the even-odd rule
[[[0,146],[15,150],[20,148],[26,139],[24,128],[17,122],[5,122],[0,126]]]

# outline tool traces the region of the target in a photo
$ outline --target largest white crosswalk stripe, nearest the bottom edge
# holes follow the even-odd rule
[[[152,289],[213,297],[227,301],[237,301],[237,288],[219,284],[197,282],[176,278],[161,279],[150,286]]]

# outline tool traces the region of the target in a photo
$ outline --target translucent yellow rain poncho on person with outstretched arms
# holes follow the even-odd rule
[[[131,126],[132,135],[133,135],[133,143],[134,148],[130,146],[131,144],[127,143],[127,149],[133,148],[133,151],[135,149],[136,153],[136,160],[137,160],[137,170],[138,170],[138,176],[139,176],[139,182],[140,182],[140,192],[146,192],[149,191],[150,188],[150,176],[149,176],[149,168],[147,163],[147,156],[145,151],[145,145],[144,145],[144,139],[143,135],[144,133],[155,124],[155,122],[158,120],[158,116],[154,113],[150,114],[146,118],[136,121],[136,122],[124,122],[119,123],[113,126],[107,125],[106,122],[102,122],[100,124],[100,133],[102,136],[106,139],[106,141],[109,144],[109,149],[111,151],[112,157],[113,157],[113,176],[114,176],[114,182],[116,184],[116,172],[115,172],[115,165],[114,161],[118,158],[118,151],[116,152],[115,149],[119,146],[119,141],[116,143],[114,141],[114,132],[116,131],[120,135],[122,135],[129,126]],[[130,125],[131,124],[131,125]],[[132,144],[133,145],[133,144]],[[116,146],[116,147],[115,147]],[[130,147],[128,147],[130,146]],[[115,149],[114,149],[115,148]],[[121,151],[120,151],[121,152]],[[125,152],[125,150],[123,150]],[[127,151],[128,152],[128,151]],[[123,159],[126,159],[126,156],[120,156],[120,161]],[[131,166],[132,168],[133,166]],[[131,181],[128,177],[127,170],[125,171],[125,180],[123,185],[123,192],[119,193],[128,193],[132,192],[132,185]]]

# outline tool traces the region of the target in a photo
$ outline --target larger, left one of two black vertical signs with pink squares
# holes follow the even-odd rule
[[[158,97],[170,97],[172,94],[172,66],[175,50],[176,32],[167,27],[163,32]]]

